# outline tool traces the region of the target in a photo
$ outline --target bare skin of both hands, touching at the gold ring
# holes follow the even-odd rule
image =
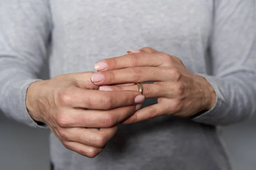
[[[67,149],[93,158],[120,122],[166,114],[189,117],[214,105],[212,86],[177,57],[152,48],[128,53],[100,61],[96,73],[63,74],[32,83],[26,93],[30,116],[47,124]],[[143,84],[141,95],[134,82],[154,84]],[[158,103],[138,110],[145,97],[157,97]]]

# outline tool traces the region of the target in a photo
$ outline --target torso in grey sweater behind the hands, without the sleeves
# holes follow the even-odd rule
[[[94,71],[97,61],[144,46],[179,57],[193,73],[207,73],[213,1],[50,0],[50,7],[51,77]],[[215,127],[172,116],[119,125],[94,159],[67,150],[51,135],[51,154],[56,170],[229,169]]]

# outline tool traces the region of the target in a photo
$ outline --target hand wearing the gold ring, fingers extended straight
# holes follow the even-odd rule
[[[95,68],[98,72],[91,76],[91,81],[101,85],[99,90],[137,91],[137,85],[116,84],[154,82],[143,84],[143,95],[145,98],[157,97],[157,104],[136,111],[123,123],[166,114],[190,117],[209,110],[215,103],[215,92],[204,77],[187,70],[179,58],[152,48],[104,59],[96,63]]]

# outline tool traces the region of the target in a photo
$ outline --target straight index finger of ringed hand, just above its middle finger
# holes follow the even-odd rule
[[[120,57],[104,59],[96,63],[94,67],[97,71],[117,70],[136,66],[156,67],[165,64],[166,55],[162,55],[162,53],[131,53]]]

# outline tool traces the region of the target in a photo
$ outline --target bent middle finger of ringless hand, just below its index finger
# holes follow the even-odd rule
[[[135,105],[108,111],[68,109],[56,121],[61,127],[113,127],[133,115],[135,110]]]

